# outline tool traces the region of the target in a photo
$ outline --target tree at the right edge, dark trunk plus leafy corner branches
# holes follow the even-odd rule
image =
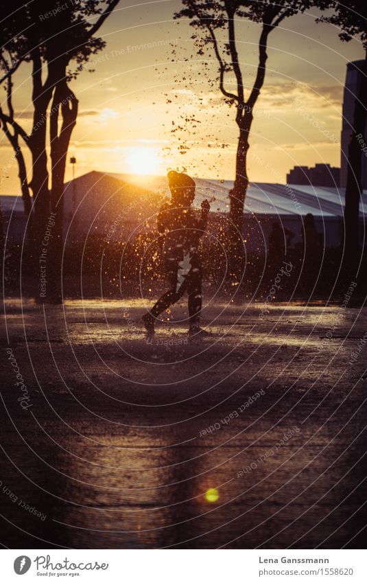
[[[344,265],[346,271],[353,272],[357,268],[359,258],[359,203],[362,193],[362,148],[357,136],[366,137],[367,113],[367,3],[366,0],[349,0],[339,3],[333,0],[330,7],[335,11],[322,21],[332,23],[342,29],[340,38],[350,41],[357,37],[362,42],[365,51],[364,66],[361,69],[361,82],[355,95],[355,111],[351,141],[348,146],[348,170],[346,179],[344,207]],[[344,152],[346,155],[346,152]]]

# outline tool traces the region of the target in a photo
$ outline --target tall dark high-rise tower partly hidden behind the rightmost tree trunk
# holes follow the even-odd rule
[[[342,170],[340,172],[340,186],[346,187],[346,174],[348,170],[348,146],[351,139],[351,132],[354,123],[355,100],[359,93],[362,79],[362,70],[364,69],[364,60],[354,60],[348,62],[346,67],[346,80],[344,86],[343,99],[343,123],[342,123]],[[367,132],[364,131],[364,141],[366,141]],[[362,187],[367,189],[367,157],[362,152]]]

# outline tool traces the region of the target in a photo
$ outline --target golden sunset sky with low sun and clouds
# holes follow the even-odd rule
[[[235,109],[213,84],[215,58],[199,57],[188,21],[174,21],[180,6],[179,0],[132,7],[121,1],[104,24],[100,34],[107,46],[95,56],[95,72],[82,71],[71,82],[80,101],[69,150],[78,162],[77,176],[90,170],[165,174],[168,168],[186,168],[193,176],[233,179]],[[254,79],[258,37],[259,25],[238,21],[248,85]],[[144,46],[148,43],[153,46]],[[268,56],[250,138],[250,180],[285,181],[294,165],[339,166],[346,63],[363,58],[362,46],[342,43],[335,27],[316,24],[314,16],[304,14],[283,21],[270,34]],[[22,65],[14,79],[14,106],[28,130],[29,72]],[[18,194],[12,150],[2,133],[0,146],[1,194]]]

